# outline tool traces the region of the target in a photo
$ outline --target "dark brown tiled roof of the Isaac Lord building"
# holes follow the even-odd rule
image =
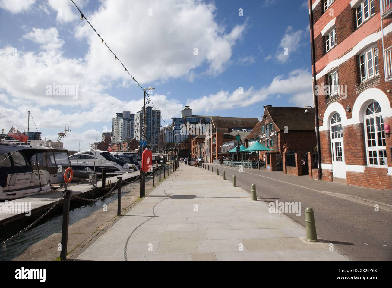
[[[264,111],[264,114],[270,115],[272,121],[275,123],[279,130],[284,130],[285,126],[289,128],[289,131],[315,130],[314,114],[312,113],[312,108],[308,108],[308,113],[305,113],[305,108],[301,107],[266,106],[265,110],[267,110],[268,113]]]

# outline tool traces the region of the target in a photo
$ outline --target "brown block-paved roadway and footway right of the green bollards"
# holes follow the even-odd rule
[[[211,165],[209,164],[210,169]],[[318,236],[334,244],[334,247],[352,260],[392,261],[392,213],[374,206],[357,203],[319,191],[361,195],[384,203],[392,202],[391,190],[376,190],[352,185],[317,181],[309,176],[292,176],[283,172],[267,172],[258,169],[243,169],[213,165],[225,170],[231,182],[236,175],[237,185],[250,192],[256,184],[257,195],[265,203],[300,202],[302,209],[314,209]],[[292,220],[304,225],[304,213],[297,217],[286,214]]]

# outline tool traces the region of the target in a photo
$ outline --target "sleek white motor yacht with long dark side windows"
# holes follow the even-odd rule
[[[125,161],[102,150],[81,151],[69,156],[69,160],[74,170],[90,168],[95,172],[102,172],[105,168],[106,172],[132,172]]]

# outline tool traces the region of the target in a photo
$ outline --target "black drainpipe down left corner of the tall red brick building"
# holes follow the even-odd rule
[[[312,40],[312,66],[313,66],[313,101],[314,101],[314,123],[316,125],[316,142],[317,142],[317,159],[318,159],[318,178],[321,179],[321,147],[320,147],[320,133],[319,133],[319,124],[318,124],[318,97],[316,94],[316,56],[315,56],[315,48],[314,48],[314,32],[313,32],[313,8],[312,8],[312,0],[309,0],[309,9],[310,9],[310,38]]]

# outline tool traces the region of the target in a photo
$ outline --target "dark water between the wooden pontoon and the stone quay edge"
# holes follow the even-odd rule
[[[133,186],[133,185],[130,185]],[[128,187],[127,187],[128,188]],[[124,189],[122,194],[127,194],[130,191],[134,191],[131,189]],[[86,198],[99,197],[97,196],[86,196]],[[70,213],[69,213],[69,225],[84,219],[85,217],[90,216],[95,211],[99,209],[103,209],[104,204],[109,204],[113,201],[117,200],[116,191],[112,192],[105,198],[90,202],[90,201],[71,201]],[[49,235],[52,235],[56,232],[61,232],[62,229],[62,206],[58,206],[59,208],[54,208],[54,213],[50,213],[48,216],[41,219],[33,228],[27,230],[22,233],[18,237],[14,238],[7,242],[7,249],[3,251],[0,247],[0,261],[11,261],[18,257],[24,250],[29,248],[34,243],[41,241],[42,239],[47,238]],[[44,213],[44,212],[42,212]],[[42,214],[40,214],[42,215]],[[38,217],[40,216],[38,215]],[[36,217],[25,217],[28,221],[21,221],[18,224],[13,224],[13,228],[7,232],[2,232],[0,234],[0,243],[5,239],[8,239],[12,235],[15,235],[19,231],[23,230],[26,226],[32,223]],[[30,219],[31,218],[31,219]],[[4,229],[4,228],[2,228]],[[1,230],[0,230],[1,231]],[[60,252],[59,252],[60,255]]]

